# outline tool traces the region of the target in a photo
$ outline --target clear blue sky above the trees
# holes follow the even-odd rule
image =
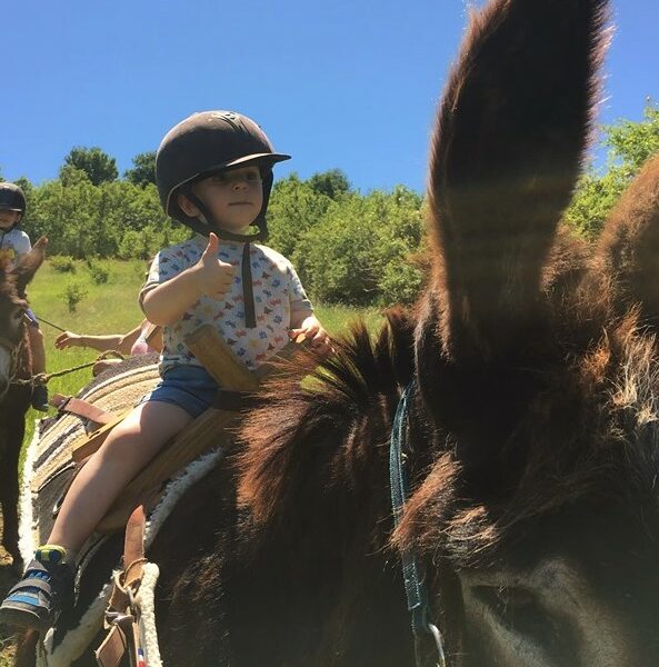
[[[423,189],[428,138],[467,0],[3,3],[0,167],[54,178],[73,146],[120,171],[192,111],[254,118],[278,175],[339,167],[362,191]],[[613,0],[600,121],[659,100],[659,3]],[[9,94],[8,94],[9,93]]]

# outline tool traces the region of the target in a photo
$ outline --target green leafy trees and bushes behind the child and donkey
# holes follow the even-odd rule
[[[659,107],[648,102],[639,122],[603,128],[605,169],[582,176],[566,220],[593,238],[647,157],[659,150]],[[58,178],[26,191],[22,222],[32,239],[49,238],[50,255],[149,260],[190,235],[160,208],[154,153],[139,153],[121,178],[100,148],[76,147]],[[1,177],[0,177],[1,179]],[[421,285],[423,198],[405,186],[361,193],[339,169],[276,182],[268,245],[291,259],[314,300],[355,306],[412,302]]]

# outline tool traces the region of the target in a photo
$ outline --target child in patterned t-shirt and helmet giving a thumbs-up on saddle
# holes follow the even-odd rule
[[[54,623],[72,599],[77,552],[121,489],[212,405],[218,385],[186,346],[187,334],[211,323],[250,369],[300,334],[331,349],[291,263],[256,242],[267,231],[272,167],[289,157],[230,111],[194,113],[162,140],[162,206],[197,232],[159,252],[140,292],[144,316],[162,326],[162,379],[81,469],[48,544],[0,606],[0,621],[38,629]]]

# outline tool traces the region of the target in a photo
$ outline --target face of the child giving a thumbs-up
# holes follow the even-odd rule
[[[263,205],[261,172],[256,165],[210,176],[192,189],[227,231],[249,227]]]

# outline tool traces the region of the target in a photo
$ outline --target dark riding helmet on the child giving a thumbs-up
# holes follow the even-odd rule
[[[167,215],[196,231],[203,235],[217,231],[197,218],[187,216],[179,207],[177,195],[182,192],[192,196],[192,183],[213,172],[256,163],[263,182],[263,205],[253,225],[259,227],[258,236],[264,238],[272,166],[289,159],[290,156],[274,152],[266,133],[247,116],[234,111],[193,113],[164,136],[156,155],[156,183],[160,202]],[[192,200],[196,199],[192,196]],[[198,203],[198,200],[194,202]],[[210,220],[209,216],[204,217]]]

